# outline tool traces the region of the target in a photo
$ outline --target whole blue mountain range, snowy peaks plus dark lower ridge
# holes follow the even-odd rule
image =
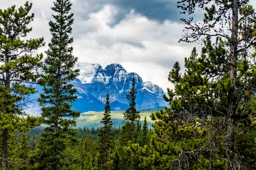
[[[78,99],[73,103],[73,108],[81,113],[87,111],[104,111],[106,95],[109,93],[110,106],[112,111],[123,111],[129,108],[128,99],[125,94],[131,88],[131,80],[136,79],[137,89],[137,109],[147,109],[154,107],[163,107],[167,103],[163,101],[165,94],[163,89],[151,82],[143,82],[142,78],[136,73],[128,73],[120,64],[107,65],[102,68],[99,64],[79,62],[76,68],[80,70],[80,75],[72,82],[77,89]],[[35,85],[39,91],[32,94],[27,113],[39,115],[40,108],[36,99],[42,93],[42,88]]]

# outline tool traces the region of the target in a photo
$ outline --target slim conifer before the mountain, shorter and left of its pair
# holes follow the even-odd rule
[[[116,144],[116,134],[115,131],[111,129],[113,123],[111,120],[111,110],[109,105],[109,95],[107,94],[105,103],[105,112],[102,118],[101,123],[103,123],[103,127],[100,128],[99,136],[99,164],[101,164],[101,170],[107,170],[107,161],[108,158],[111,158],[111,154],[109,150],[114,150]]]

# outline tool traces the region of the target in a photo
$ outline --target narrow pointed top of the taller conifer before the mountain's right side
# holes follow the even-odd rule
[[[136,121],[137,119],[140,119],[140,112],[137,111],[136,109],[135,100],[136,100],[137,90],[135,88],[135,85],[136,85],[136,81],[133,74],[131,89],[128,92],[128,94],[126,94],[126,98],[130,101],[130,104],[129,104],[130,108],[128,108],[124,113],[125,120],[131,121],[132,125],[134,124],[134,121]]]

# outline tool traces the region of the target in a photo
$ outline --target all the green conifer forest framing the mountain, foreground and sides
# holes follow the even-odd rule
[[[30,1],[9,8],[0,2],[0,170],[256,170],[252,0],[173,0],[184,29],[176,43],[200,48],[170,65],[166,79],[174,88],[162,96],[168,106],[151,120],[137,109],[132,74],[120,127],[111,119],[111,91],[101,125],[76,127],[73,0],[52,0],[49,42],[44,34],[28,37]],[[35,85],[42,88],[40,116],[26,113]]]

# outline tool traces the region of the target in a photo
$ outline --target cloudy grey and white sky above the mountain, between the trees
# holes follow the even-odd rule
[[[184,24],[177,0],[71,0],[74,13],[73,54],[79,62],[99,63],[103,68],[121,64],[166,91],[174,62],[184,63],[197,44],[178,43]],[[252,0],[255,3],[256,0]],[[1,0],[1,9],[21,6],[26,0]],[[50,40],[53,0],[29,0],[35,20],[29,37]],[[256,3],[255,3],[256,4]],[[202,11],[199,11],[202,12]],[[38,52],[44,52],[44,48]],[[200,51],[200,50],[198,50]]]

